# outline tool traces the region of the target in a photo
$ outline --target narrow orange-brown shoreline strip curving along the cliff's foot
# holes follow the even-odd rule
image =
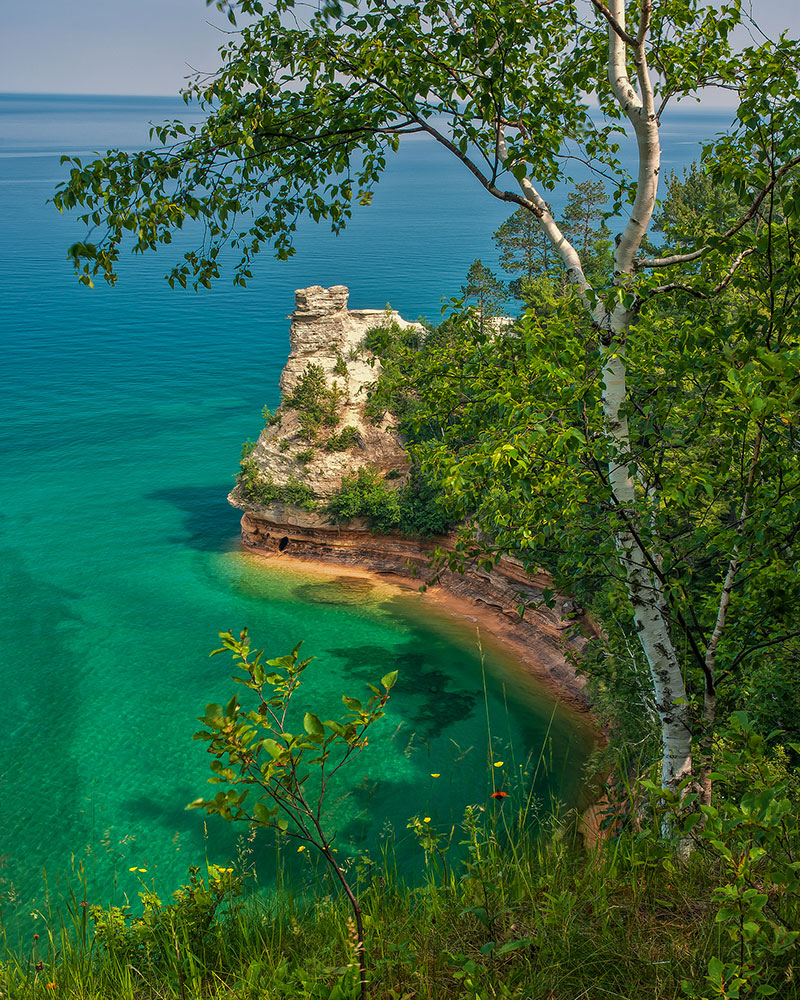
[[[574,717],[580,728],[591,731],[595,742],[602,741],[602,729],[592,714],[585,681],[578,676],[560,648],[568,644],[564,635],[566,627],[561,630],[545,629],[541,623],[532,622],[531,618],[520,618],[516,614],[512,617],[498,606],[454,593],[441,583],[420,590],[418,578],[394,570],[377,572],[335,560],[315,559],[306,553],[270,552],[244,542],[240,544],[244,553],[268,562],[271,568],[279,571],[308,573],[329,580],[336,577],[368,580],[373,586],[383,587],[395,595],[416,597],[421,607],[427,605],[443,620],[454,622],[464,630],[465,636],[468,626],[474,625],[478,635],[485,633],[489,645],[494,646],[508,661],[511,669],[557,701]],[[575,643],[569,645],[573,649],[578,648]]]

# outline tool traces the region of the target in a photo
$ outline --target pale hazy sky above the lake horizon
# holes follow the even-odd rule
[[[176,94],[216,68],[227,20],[204,0],[3,4],[0,93]],[[800,35],[798,0],[753,0],[770,35]]]

